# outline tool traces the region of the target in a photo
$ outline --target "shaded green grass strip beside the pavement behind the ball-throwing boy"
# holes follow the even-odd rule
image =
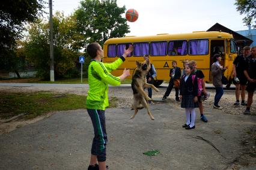
[[[0,118],[8,119],[19,114],[23,118],[47,114],[51,111],[85,109],[86,96],[61,93],[0,93]],[[118,99],[111,97],[109,108],[117,107]]]

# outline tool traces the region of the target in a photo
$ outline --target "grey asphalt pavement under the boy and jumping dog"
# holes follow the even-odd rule
[[[255,116],[207,110],[209,123],[203,123],[197,110],[196,128],[185,130],[180,107],[165,102],[150,108],[154,121],[145,110],[135,119],[129,109],[106,110],[110,169],[225,169],[251,147],[242,143],[255,130]],[[87,169],[92,139],[86,110],[56,112],[0,135],[0,169]],[[143,154],[150,150],[160,153]]]

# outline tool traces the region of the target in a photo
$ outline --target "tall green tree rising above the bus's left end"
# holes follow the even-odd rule
[[[83,40],[77,42],[80,47],[85,47],[90,42],[103,44],[113,37],[123,37],[129,33],[126,19],[121,17],[126,10],[118,7],[116,0],[84,0],[75,11],[77,30]]]

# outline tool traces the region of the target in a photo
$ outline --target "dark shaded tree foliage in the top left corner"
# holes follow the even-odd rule
[[[22,38],[26,22],[34,22],[44,8],[43,0],[9,0],[0,2],[0,57],[5,57]]]

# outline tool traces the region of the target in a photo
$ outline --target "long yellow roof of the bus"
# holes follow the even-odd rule
[[[186,34],[159,34],[150,36],[133,36],[122,38],[110,38],[104,44],[118,44],[127,42],[147,42],[147,41],[169,41],[169,40],[187,40],[201,38],[233,38],[232,34],[227,32],[209,31],[192,32]]]

